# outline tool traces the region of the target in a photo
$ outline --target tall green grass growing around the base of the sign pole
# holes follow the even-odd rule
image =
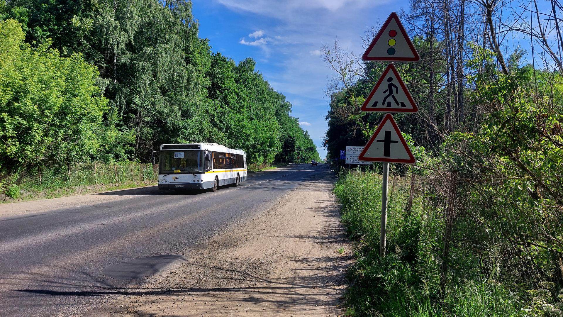
[[[390,181],[387,257],[379,257],[381,176],[373,172],[343,171],[334,192],[342,204],[342,221],[357,243],[356,262],[348,273],[348,316],[485,317],[551,316],[529,306],[522,294],[486,276],[455,279],[440,292],[441,242],[439,213],[417,203],[404,211],[409,181]],[[555,316],[555,315],[553,315]]]

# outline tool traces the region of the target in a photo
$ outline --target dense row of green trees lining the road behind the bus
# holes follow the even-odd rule
[[[147,162],[215,142],[249,163],[319,159],[252,59],[198,37],[185,0],[1,0],[0,168]]]

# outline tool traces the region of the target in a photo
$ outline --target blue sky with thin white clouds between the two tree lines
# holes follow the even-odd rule
[[[333,74],[320,47],[338,38],[342,48],[361,55],[365,30],[408,6],[406,0],[193,0],[199,37],[236,62],[256,60],[256,69],[293,104],[292,115],[321,158],[329,109],[324,90]]]

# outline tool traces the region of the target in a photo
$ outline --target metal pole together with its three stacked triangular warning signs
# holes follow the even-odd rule
[[[383,162],[383,180],[381,193],[381,239],[379,242],[379,256],[385,257],[387,240],[387,196],[389,184],[389,163],[415,162],[414,156],[406,144],[391,112],[417,112],[418,106],[405,86],[397,69],[395,61],[419,61],[420,56],[412,41],[406,34],[399,16],[391,12],[372,43],[361,56],[364,61],[388,61],[391,64],[365,99],[361,111],[387,112],[379,123],[376,131],[369,139],[364,149],[358,155],[358,160],[364,162]],[[387,89],[386,89],[387,87]],[[400,87],[400,89],[399,89]],[[391,100],[389,99],[391,98]],[[385,129],[383,129],[385,127]],[[382,142],[380,145],[378,142]],[[391,148],[391,144],[397,144]]]

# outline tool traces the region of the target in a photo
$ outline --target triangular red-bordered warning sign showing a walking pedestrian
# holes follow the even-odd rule
[[[395,65],[389,64],[383,71],[372,92],[361,106],[367,112],[417,112],[418,107],[406,88]]]

